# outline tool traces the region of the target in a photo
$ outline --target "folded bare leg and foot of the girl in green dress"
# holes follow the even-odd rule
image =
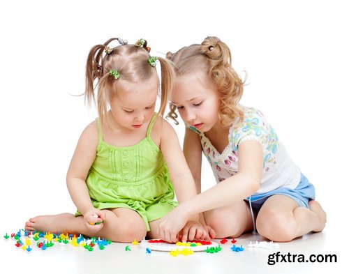
[[[105,209],[105,222],[89,229],[82,216],[70,213],[58,215],[40,215],[29,219],[25,229],[30,231],[47,231],[52,233],[84,234],[89,237],[103,237],[115,242],[130,243],[141,241],[147,229],[137,212],[128,208]]]

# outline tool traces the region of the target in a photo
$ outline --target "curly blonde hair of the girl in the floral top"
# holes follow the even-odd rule
[[[174,63],[177,76],[190,75],[202,71],[216,87],[221,99],[218,117],[221,125],[228,127],[237,118],[241,122],[244,112],[239,107],[239,100],[244,91],[244,82],[232,68],[231,52],[229,47],[216,37],[207,37],[201,45],[194,44],[182,47],[166,57]],[[177,107],[170,104],[168,116],[178,124]]]

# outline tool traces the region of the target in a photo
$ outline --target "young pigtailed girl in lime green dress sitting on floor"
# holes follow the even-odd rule
[[[113,40],[121,45],[111,48]],[[117,242],[158,238],[159,220],[177,206],[174,191],[179,204],[195,196],[195,183],[177,135],[163,119],[172,88],[172,66],[166,59],[151,57],[149,51],[143,39],[128,45],[112,38],[91,48],[85,96],[91,101],[96,95],[98,119],[82,132],[67,174],[77,213],[40,215],[29,219],[25,229]],[[197,220],[198,215],[191,216],[184,229],[186,237],[207,236]]]

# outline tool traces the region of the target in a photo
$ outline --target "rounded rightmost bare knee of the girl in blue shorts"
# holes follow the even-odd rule
[[[295,238],[295,222],[292,216],[273,208],[258,215],[256,228],[258,234],[270,241],[289,242]]]

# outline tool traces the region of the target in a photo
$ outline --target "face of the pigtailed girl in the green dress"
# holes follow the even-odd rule
[[[110,101],[110,112],[117,127],[138,130],[147,127],[155,111],[158,81],[149,79],[142,83],[125,83]]]

